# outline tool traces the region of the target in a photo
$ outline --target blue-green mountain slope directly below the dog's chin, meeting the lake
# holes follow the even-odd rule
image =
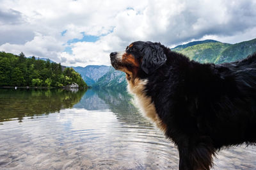
[[[100,77],[100,79],[93,85],[93,88],[125,89],[126,86],[125,73],[117,71],[111,66],[109,72]]]

